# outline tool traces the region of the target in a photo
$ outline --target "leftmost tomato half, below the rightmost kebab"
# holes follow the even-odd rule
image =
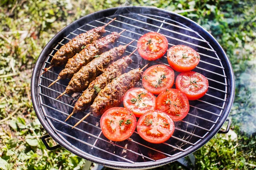
[[[123,141],[129,138],[136,128],[136,117],[126,108],[110,108],[102,115],[100,127],[102,133],[111,141]]]

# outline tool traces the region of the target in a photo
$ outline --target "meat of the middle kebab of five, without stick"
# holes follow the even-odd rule
[[[104,72],[104,69],[114,60],[125,53],[126,45],[119,45],[111,50],[102,53],[98,58],[93,59],[82,67],[70,80],[66,92],[74,93],[84,91],[90,82]]]

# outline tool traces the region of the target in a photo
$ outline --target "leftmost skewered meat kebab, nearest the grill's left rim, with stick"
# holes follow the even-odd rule
[[[113,20],[115,19],[116,18]],[[68,59],[72,58],[76,53],[79,53],[82,50],[83,46],[92,43],[94,40],[98,40],[101,35],[106,32],[105,27],[108,26],[113,20],[111,20],[105,26],[93,28],[86,33],[79,34],[67,42],[67,44],[61,46],[61,48],[52,57],[51,66],[49,68],[44,68],[44,72],[42,74],[54,66],[66,64]]]

